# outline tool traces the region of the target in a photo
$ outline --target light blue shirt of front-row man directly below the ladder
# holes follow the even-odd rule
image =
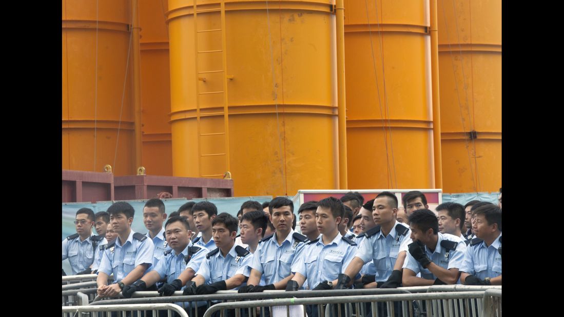
[[[240,257],[235,251],[238,245],[233,244],[226,257],[223,257],[221,250],[217,250],[213,255],[207,256],[202,261],[196,275],[201,275],[206,284],[215,283],[231,278],[235,274],[249,276],[249,265],[253,261],[253,254],[249,252],[244,257]],[[213,251],[213,250],[212,250]],[[241,286],[245,283],[241,284]],[[239,289],[236,287],[234,289]]]

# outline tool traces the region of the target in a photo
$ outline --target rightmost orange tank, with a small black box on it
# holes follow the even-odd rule
[[[444,192],[501,187],[501,0],[438,2]]]

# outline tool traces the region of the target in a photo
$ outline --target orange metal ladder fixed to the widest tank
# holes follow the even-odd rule
[[[227,56],[225,52],[225,3],[221,0],[217,4],[205,5],[206,8],[199,10],[194,0],[194,36],[195,36],[195,58],[196,58],[196,120],[198,133],[198,156],[200,177],[217,178],[231,175],[229,161],[229,117],[227,108]],[[213,12],[219,12],[219,15]],[[198,24],[197,16],[205,14],[202,23]],[[221,34],[221,40],[218,35]],[[221,47],[218,46],[221,42]],[[203,44],[202,44],[203,43]],[[215,46],[215,47],[214,47]],[[221,68],[217,61],[221,54]],[[202,63],[203,65],[201,65]],[[233,77],[230,76],[230,79]],[[201,109],[202,102],[216,103],[222,99],[223,111],[211,112],[208,108]],[[214,106],[215,109],[217,107]],[[223,125],[213,124],[213,117],[223,116]],[[208,124],[202,129],[202,117],[208,118]],[[221,151],[219,144],[224,144]],[[231,178],[231,177],[228,177]]]

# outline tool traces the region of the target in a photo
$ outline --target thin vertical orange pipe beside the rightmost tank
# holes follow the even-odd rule
[[[435,188],[443,188],[443,163],[440,145],[440,102],[439,102],[439,39],[437,34],[437,0],[429,0],[431,17],[431,86],[433,91],[433,157],[435,159]]]

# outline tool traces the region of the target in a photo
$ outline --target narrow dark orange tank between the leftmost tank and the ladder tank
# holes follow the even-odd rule
[[[139,1],[143,166],[147,175],[172,176],[167,0]]]

